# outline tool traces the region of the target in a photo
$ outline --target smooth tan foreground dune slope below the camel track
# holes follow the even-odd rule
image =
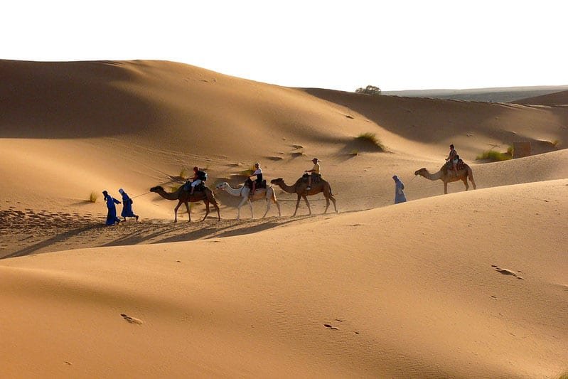
[[[568,360],[567,195],[545,181],[2,260],[1,374],[550,378]]]

